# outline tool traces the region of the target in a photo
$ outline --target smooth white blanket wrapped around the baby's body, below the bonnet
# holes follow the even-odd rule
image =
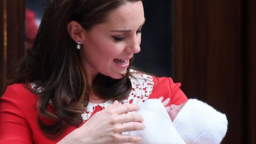
[[[124,132],[125,135],[140,136],[135,144],[185,144],[172,125],[163,104],[158,99],[147,99],[140,105],[139,113],[146,125],[144,130]]]

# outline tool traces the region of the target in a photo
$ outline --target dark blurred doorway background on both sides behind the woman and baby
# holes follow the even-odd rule
[[[47,0],[0,0],[0,94]],[[144,0],[134,65],[226,113],[222,144],[256,144],[256,0]]]

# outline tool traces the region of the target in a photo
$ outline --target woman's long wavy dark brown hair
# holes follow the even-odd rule
[[[27,88],[38,95],[39,115],[56,121],[54,125],[46,125],[38,116],[39,127],[47,137],[62,134],[68,124],[75,127],[82,124],[81,114],[89,102],[89,88],[79,50],[68,34],[68,22],[77,21],[89,31],[95,24],[104,23],[111,10],[135,1],[140,0],[49,0],[33,45],[13,81],[26,83]],[[124,99],[131,90],[129,70],[132,61],[123,78],[98,74],[90,88],[106,100]],[[43,87],[43,91],[31,89],[31,82]],[[47,109],[50,99],[54,113]]]

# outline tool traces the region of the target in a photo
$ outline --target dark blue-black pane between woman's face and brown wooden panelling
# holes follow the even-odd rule
[[[172,76],[172,0],[144,0],[146,23],[142,28],[141,51],[134,65],[157,76]]]

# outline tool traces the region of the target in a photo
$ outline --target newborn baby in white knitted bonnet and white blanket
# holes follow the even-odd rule
[[[169,99],[147,99],[140,105],[144,118],[144,130],[125,132],[136,135],[142,141],[136,144],[220,144],[227,132],[227,118],[213,107],[189,99],[179,106],[171,105]]]

